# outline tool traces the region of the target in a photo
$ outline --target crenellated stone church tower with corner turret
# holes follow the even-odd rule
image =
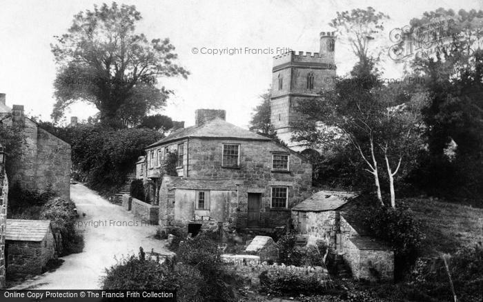
[[[320,33],[319,52],[286,52],[273,58],[270,123],[288,147],[302,151],[291,141],[297,102],[317,97],[320,90],[333,89],[335,78],[335,32]]]

